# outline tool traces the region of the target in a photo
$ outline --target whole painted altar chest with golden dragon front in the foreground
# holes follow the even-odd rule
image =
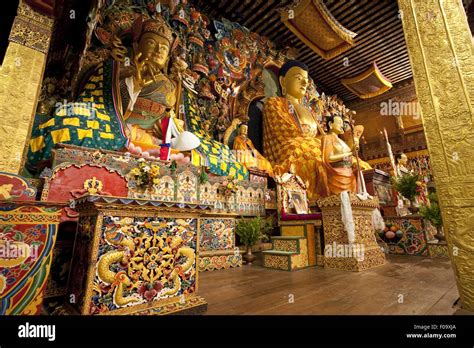
[[[198,218],[207,205],[112,196],[76,199],[68,313],[201,313]]]

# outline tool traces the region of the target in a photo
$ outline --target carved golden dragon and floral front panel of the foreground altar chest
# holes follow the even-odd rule
[[[196,219],[106,216],[90,313],[195,292]]]

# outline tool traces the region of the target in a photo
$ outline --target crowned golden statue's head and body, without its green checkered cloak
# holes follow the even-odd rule
[[[132,65],[122,69],[120,79],[126,133],[135,152],[156,154],[160,146],[166,145],[161,153],[168,152],[164,157],[169,157],[170,138],[184,130],[183,121],[174,117],[177,83],[167,75],[174,34],[158,17],[143,23],[139,37],[134,43]],[[189,132],[182,136],[194,137]],[[196,143],[192,140],[189,143]]]

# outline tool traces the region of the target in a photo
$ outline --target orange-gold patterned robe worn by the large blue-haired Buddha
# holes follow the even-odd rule
[[[296,117],[290,112],[286,98],[271,97],[265,101],[264,155],[272,164],[275,175],[288,172],[294,164],[296,174],[308,183],[308,198],[313,200],[318,198],[321,140],[315,133],[303,132]]]

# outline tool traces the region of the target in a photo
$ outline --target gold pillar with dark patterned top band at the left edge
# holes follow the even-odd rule
[[[17,174],[28,150],[53,20],[21,2],[0,66],[0,171]]]

